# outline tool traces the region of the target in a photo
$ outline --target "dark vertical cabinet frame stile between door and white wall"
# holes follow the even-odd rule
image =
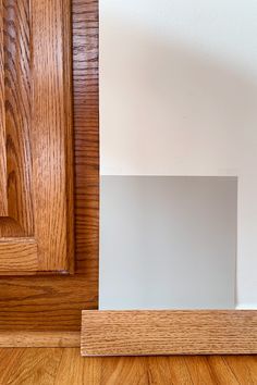
[[[73,0],[76,273],[90,271],[98,293],[98,0]]]

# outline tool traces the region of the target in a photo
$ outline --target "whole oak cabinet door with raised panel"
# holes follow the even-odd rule
[[[72,273],[70,0],[0,8],[0,274]]]

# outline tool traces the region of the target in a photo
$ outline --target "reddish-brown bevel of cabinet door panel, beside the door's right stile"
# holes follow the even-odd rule
[[[29,1],[3,5],[8,215],[33,236]]]

